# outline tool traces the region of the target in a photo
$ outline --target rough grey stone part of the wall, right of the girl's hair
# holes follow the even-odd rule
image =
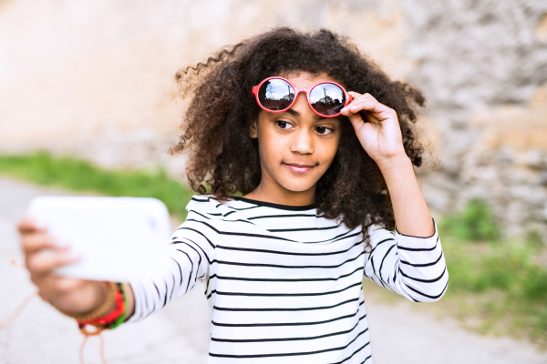
[[[507,233],[547,222],[547,2],[403,0],[444,173],[424,173],[432,207],[488,200]]]

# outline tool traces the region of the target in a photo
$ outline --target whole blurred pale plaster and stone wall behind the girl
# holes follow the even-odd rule
[[[481,197],[509,235],[547,229],[544,0],[0,1],[0,149],[180,172],[172,75],[272,25],[350,35],[425,91],[430,207]]]

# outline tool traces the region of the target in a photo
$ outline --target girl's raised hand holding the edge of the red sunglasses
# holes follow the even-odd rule
[[[353,100],[342,109],[342,115],[349,117],[366,154],[378,167],[387,167],[395,159],[407,157],[395,110],[380,104],[370,94],[361,95],[353,91],[349,94]],[[363,120],[359,111],[365,112],[368,122]]]

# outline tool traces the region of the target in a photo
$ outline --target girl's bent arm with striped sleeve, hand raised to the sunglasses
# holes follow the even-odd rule
[[[397,228],[371,227],[371,251],[365,275],[408,299],[438,300],[446,292],[449,274],[437,226],[418,187],[418,180],[403,147],[395,110],[369,94],[351,92],[354,100],[342,110],[349,117],[366,153],[386,180]],[[359,111],[365,110],[368,122]]]

